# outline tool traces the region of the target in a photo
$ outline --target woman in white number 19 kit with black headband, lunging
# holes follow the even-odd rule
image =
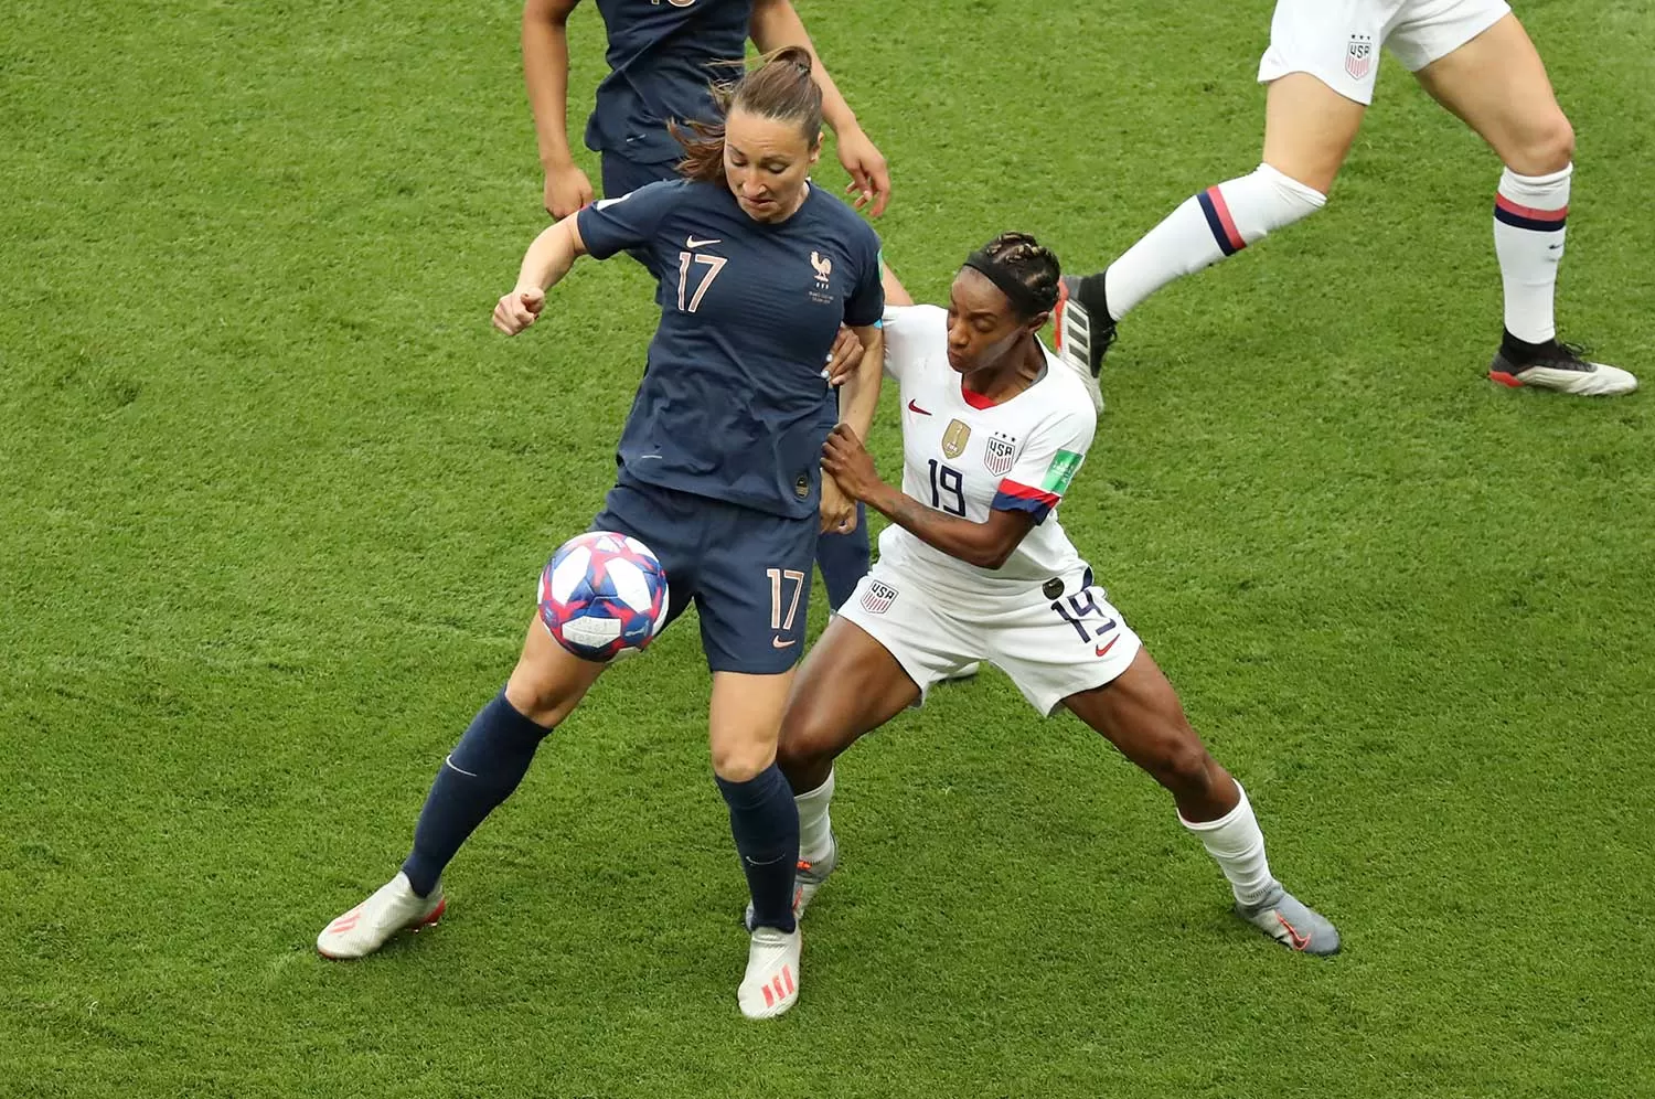
[[[799,806],[794,910],[837,864],[834,756],[960,664],[991,660],[1043,715],[1067,707],[1172,793],[1243,919],[1294,950],[1334,953],[1339,932],[1271,876],[1241,786],[1058,523],[1097,424],[1084,379],[1036,338],[1058,283],[1056,257],[1021,233],[971,255],[948,310],[892,306],[909,298],[887,276],[902,488],[879,478],[854,432],[829,435],[823,468],[892,525],[806,657],[783,718],[778,763]]]

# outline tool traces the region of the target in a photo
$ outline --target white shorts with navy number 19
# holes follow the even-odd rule
[[[960,593],[880,559],[839,614],[897,659],[920,700],[962,664],[988,660],[1051,715],[1069,695],[1125,672],[1144,647],[1091,579],[1081,566],[1044,586],[991,581]]]

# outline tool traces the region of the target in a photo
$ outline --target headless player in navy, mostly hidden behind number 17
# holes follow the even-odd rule
[[[546,169],[546,210],[553,217],[568,217],[592,200],[592,185],[574,164],[568,134],[566,23],[578,3],[526,0],[523,5],[523,79]],[[851,174],[856,205],[867,205],[875,215],[884,212],[890,194],[885,159],[816,58],[789,0],[597,0],[597,12],[609,40],[609,74],[597,86],[586,146],[602,156],[606,199],[674,179],[684,149],[669,124],[717,118],[712,86],[732,78],[751,38],[765,53],[784,46],[811,51],[811,71],[823,89],[823,121],[832,129],[839,162]],[[674,273],[654,275],[670,280]],[[837,351],[851,359],[844,366],[854,369],[856,341],[841,338]],[[867,573],[867,521],[861,508],[854,518],[854,526],[826,531],[816,546],[829,606],[844,602]]]

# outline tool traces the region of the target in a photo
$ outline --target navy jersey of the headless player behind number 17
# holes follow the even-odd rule
[[[741,76],[753,0],[597,0],[609,76],[586,119],[586,147],[639,164],[684,156],[667,121],[715,121],[710,84]]]

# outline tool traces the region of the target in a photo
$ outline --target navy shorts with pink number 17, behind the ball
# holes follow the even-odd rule
[[[631,535],[655,553],[667,569],[667,622],[695,601],[713,672],[776,675],[798,662],[814,515],[789,520],[629,478],[609,490],[592,530]]]

